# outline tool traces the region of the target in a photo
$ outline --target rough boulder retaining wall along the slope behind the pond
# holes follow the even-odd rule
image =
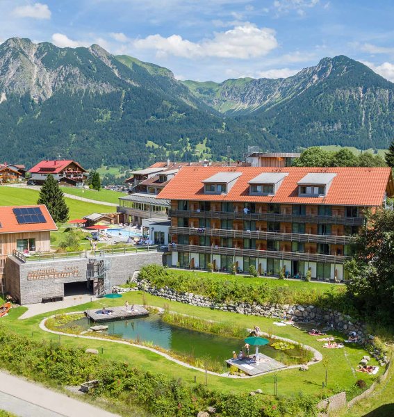
[[[183,302],[195,306],[208,307],[210,309],[232,311],[233,313],[245,314],[247,316],[263,316],[270,318],[277,318],[282,320],[284,314],[286,314],[286,320],[293,320],[294,322],[311,322],[321,323],[322,325],[329,326],[332,329],[338,330],[348,334],[350,332],[356,332],[359,336],[359,341],[363,343],[366,338],[366,325],[360,322],[352,320],[350,316],[347,316],[338,311],[330,309],[324,310],[316,306],[302,306],[302,305],[290,305],[290,304],[220,304],[213,302],[208,297],[192,293],[177,293],[177,291],[171,288],[154,288],[148,281],[139,280],[138,277],[133,279],[136,281],[136,289],[146,291],[151,295],[157,295],[158,297],[166,298],[167,300]]]

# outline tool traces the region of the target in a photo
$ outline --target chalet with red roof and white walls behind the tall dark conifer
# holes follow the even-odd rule
[[[81,186],[88,176],[88,171],[71,160],[41,161],[28,172],[35,183],[43,183],[48,175],[53,175],[56,181],[65,186]]]

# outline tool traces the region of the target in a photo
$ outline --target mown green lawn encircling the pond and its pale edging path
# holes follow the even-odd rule
[[[128,300],[130,304],[142,304],[145,300],[148,305],[163,307],[165,304],[170,306],[170,310],[178,313],[186,313],[190,316],[198,316],[199,318],[216,320],[218,322],[233,323],[238,326],[245,327],[245,329],[258,325],[265,332],[270,334],[277,334],[286,338],[291,338],[301,343],[306,343],[320,350],[324,357],[329,361],[328,365],[328,389],[331,393],[339,389],[350,389],[354,386],[357,379],[366,379],[368,384],[372,383],[373,377],[359,373],[353,373],[352,368],[356,368],[359,360],[366,354],[357,345],[347,345],[340,350],[325,350],[322,349],[322,342],[316,341],[315,337],[309,336],[306,332],[296,329],[292,326],[276,327],[272,325],[274,320],[270,318],[243,316],[236,313],[228,313],[224,311],[213,311],[197,306],[190,306],[188,304],[181,304],[178,302],[170,302],[160,297],[138,292],[126,293],[120,300],[111,300],[110,305],[122,305]],[[108,305],[108,300],[100,300],[94,303],[84,304],[83,306],[74,306],[70,309],[62,311],[82,311],[87,308],[100,308],[102,305]],[[10,314],[1,319],[1,325],[8,327],[13,332],[27,336],[32,336],[36,340],[54,340],[58,341],[59,336],[43,332],[38,327],[42,318],[50,316],[51,313],[35,316],[27,320],[17,320],[17,318],[25,311],[24,307],[12,309]],[[338,334],[334,334],[338,336]],[[177,363],[168,361],[160,355],[142,350],[138,347],[121,345],[118,343],[111,343],[110,341],[90,341],[70,336],[61,336],[61,343],[65,345],[79,345],[83,347],[94,347],[101,352],[104,357],[108,359],[115,359],[120,361],[127,361],[133,366],[149,370],[154,373],[163,373],[169,376],[177,375],[183,379],[184,382],[192,384],[194,378],[197,377],[197,382],[204,382],[204,373],[185,368]],[[240,340],[240,347],[243,341]],[[231,352],[229,352],[229,357]],[[372,364],[375,362],[372,360]],[[325,368],[323,363],[316,363],[311,366],[309,370],[302,373],[298,368],[284,370],[278,374],[278,393],[294,394],[299,392],[304,393],[321,393],[322,382],[325,380]],[[251,379],[230,379],[208,375],[208,387],[218,389],[220,391],[237,391],[249,392],[254,389],[262,389],[264,393],[272,393],[273,375],[265,375]]]

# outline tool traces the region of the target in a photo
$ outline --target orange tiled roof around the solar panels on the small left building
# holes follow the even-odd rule
[[[26,223],[19,224],[17,218],[13,212],[13,208],[23,208],[23,207],[40,207],[41,212],[44,215],[46,223]],[[54,220],[49,214],[47,206],[43,204],[35,206],[3,206],[0,207],[0,234],[4,233],[23,233],[26,231],[48,231],[48,230],[57,230]]]

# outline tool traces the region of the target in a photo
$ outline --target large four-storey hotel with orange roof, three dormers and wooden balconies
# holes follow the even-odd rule
[[[393,195],[388,167],[183,167],[158,198],[174,266],[338,281],[366,210]]]

